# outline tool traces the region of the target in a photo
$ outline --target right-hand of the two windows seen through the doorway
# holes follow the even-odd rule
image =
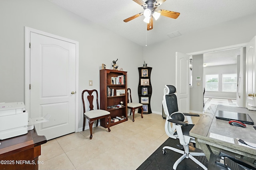
[[[236,74],[223,74],[222,91],[236,92]]]

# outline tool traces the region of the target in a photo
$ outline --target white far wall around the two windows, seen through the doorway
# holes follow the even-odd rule
[[[218,92],[205,91],[204,96],[214,97],[214,98],[236,99],[236,92],[222,92],[222,74],[236,74],[236,72],[237,72],[236,64],[204,67],[204,76],[203,76],[204,82],[205,82],[206,74],[218,74],[219,76],[219,81],[218,81],[219,91]]]

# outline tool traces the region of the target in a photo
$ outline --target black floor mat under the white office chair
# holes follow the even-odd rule
[[[177,147],[180,145],[178,139],[167,139],[152,155],[150,155],[145,162],[143,162],[137,170],[172,170],[174,162],[180,158],[181,154],[174,152],[172,150],[166,149],[167,153],[163,154],[162,149],[164,146]],[[202,152],[200,149],[194,148],[191,152]],[[208,167],[208,160],[205,156],[194,156],[199,160],[204,166]],[[191,159],[184,159],[178,164],[176,170],[203,170],[198,164],[196,164]]]

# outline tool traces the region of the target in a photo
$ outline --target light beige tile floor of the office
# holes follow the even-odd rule
[[[128,121],[110,127],[111,132],[94,127],[92,140],[87,129],[47,141],[39,170],[135,170],[168,139],[162,115],[143,116],[135,114],[134,122],[128,116]]]

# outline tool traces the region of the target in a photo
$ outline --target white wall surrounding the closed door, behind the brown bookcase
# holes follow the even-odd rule
[[[25,26],[79,42],[79,128],[83,116],[80,94],[84,89],[100,91],[102,63],[112,69],[112,61],[118,58],[119,68],[128,72],[133,100],[138,102],[138,67],[143,64],[138,44],[47,0],[1,0],[0,21],[0,102],[25,100]],[[93,86],[88,86],[89,80]]]

